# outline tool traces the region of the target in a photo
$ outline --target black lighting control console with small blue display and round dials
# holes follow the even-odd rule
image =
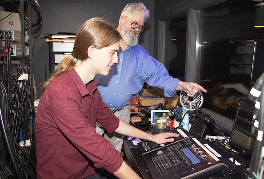
[[[146,141],[138,143],[139,148],[144,142],[146,145]],[[164,146],[151,146],[151,150],[144,148],[142,155],[154,179],[202,178],[221,171],[230,178],[227,165],[191,136]]]

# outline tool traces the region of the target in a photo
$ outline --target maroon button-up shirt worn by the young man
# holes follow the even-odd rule
[[[113,173],[122,165],[119,152],[95,132],[96,121],[109,133],[119,125],[96,85],[85,86],[71,69],[42,94],[35,120],[38,178],[86,178],[99,175],[96,168]]]

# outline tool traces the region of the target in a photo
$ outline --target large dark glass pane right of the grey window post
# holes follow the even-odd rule
[[[200,84],[208,90],[203,107],[230,119],[252,87],[253,42],[264,38],[264,28],[254,27],[257,3],[226,1],[201,11]]]

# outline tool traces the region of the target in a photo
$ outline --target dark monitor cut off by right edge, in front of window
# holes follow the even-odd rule
[[[264,72],[264,39],[255,40],[250,82],[255,83]]]

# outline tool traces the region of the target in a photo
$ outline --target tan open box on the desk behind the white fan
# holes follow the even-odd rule
[[[164,96],[164,90],[161,89],[142,89],[137,96],[140,104],[142,106],[154,106],[159,103],[165,103],[168,101],[167,105],[177,105],[179,96],[174,94],[173,97],[167,98],[153,98],[154,96]]]

